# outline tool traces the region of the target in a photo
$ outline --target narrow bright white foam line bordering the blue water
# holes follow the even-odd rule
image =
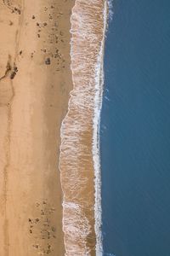
[[[96,83],[95,83],[95,108],[94,108],[94,140],[93,140],[93,155],[94,155],[94,173],[95,173],[95,233],[96,233],[96,255],[102,256],[102,209],[101,209],[101,168],[99,156],[99,125],[100,125],[100,111],[102,107],[103,86],[104,86],[104,48],[105,48],[105,31],[107,26],[107,2],[104,7],[104,33],[103,40],[99,51],[98,62],[96,65]]]

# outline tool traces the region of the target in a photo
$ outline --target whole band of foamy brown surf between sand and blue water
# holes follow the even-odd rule
[[[99,114],[106,0],[76,0],[71,15],[73,90],[61,125],[65,255],[102,255]]]

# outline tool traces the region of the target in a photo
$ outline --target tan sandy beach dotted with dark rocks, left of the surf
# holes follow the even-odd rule
[[[0,255],[65,254],[60,124],[74,0],[0,1]]]

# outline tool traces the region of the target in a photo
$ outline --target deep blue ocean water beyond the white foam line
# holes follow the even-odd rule
[[[113,0],[100,124],[104,256],[170,255],[170,1]]]

